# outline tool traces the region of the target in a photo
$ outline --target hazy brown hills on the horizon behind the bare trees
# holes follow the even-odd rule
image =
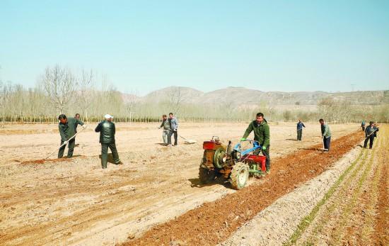
[[[170,86],[152,91],[146,96],[123,94],[125,102],[135,100],[141,102],[169,101],[172,97],[179,97],[188,104],[260,104],[270,105],[317,105],[320,99],[332,98],[336,101],[350,101],[352,104],[383,104],[389,102],[389,91],[353,91],[353,92],[325,92],[325,91],[259,91],[243,87],[227,87],[204,93],[197,89],[182,86]]]

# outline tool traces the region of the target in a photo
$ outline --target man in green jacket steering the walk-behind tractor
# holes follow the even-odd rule
[[[260,142],[262,146],[262,154],[266,157],[266,173],[270,173],[270,155],[269,155],[269,147],[270,147],[270,129],[269,125],[267,125],[267,121],[263,118],[263,113],[257,113],[257,118],[255,121],[252,121],[250,125],[248,125],[243,138],[241,141],[246,140],[248,135],[254,131],[254,140]],[[253,152],[254,155],[260,154],[260,150]]]

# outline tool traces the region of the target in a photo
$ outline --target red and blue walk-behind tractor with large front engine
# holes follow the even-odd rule
[[[250,142],[252,147],[243,150],[242,142],[238,142],[232,148],[231,141],[228,141],[226,146],[216,136],[210,141],[204,141],[204,157],[199,167],[200,181],[209,184],[218,177],[224,177],[231,182],[234,189],[243,189],[250,175],[255,177],[265,175],[266,157],[252,154],[259,153],[262,146],[255,140],[245,141]]]

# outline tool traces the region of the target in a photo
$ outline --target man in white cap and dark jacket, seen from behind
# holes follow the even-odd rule
[[[115,145],[115,123],[112,122],[113,116],[106,114],[104,116],[104,121],[98,123],[98,126],[95,128],[95,132],[100,132],[100,143],[101,143],[101,167],[103,169],[107,168],[108,162],[108,147],[112,152],[113,161],[115,164],[123,164],[120,162],[119,154],[116,150]]]

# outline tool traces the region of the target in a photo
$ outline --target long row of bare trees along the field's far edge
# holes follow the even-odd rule
[[[268,121],[317,121],[324,118],[332,123],[374,120],[388,123],[389,104],[353,105],[349,101],[322,99],[314,111],[303,106],[279,110],[264,101],[257,105],[234,106],[197,105],[185,103],[180,87],[172,87],[166,99],[158,103],[127,98],[93,70],[74,72],[67,67],[47,67],[33,88],[0,81],[1,123],[57,123],[60,113],[74,116],[81,113],[86,122],[101,121],[105,113],[115,116],[118,122],[157,122],[161,114],[173,112],[180,121],[250,121],[255,113],[265,113]]]

